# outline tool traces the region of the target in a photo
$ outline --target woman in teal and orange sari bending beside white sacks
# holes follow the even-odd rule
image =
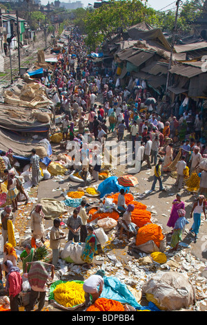
[[[88,226],[88,236],[86,237],[86,247],[83,250],[81,259],[88,264],[88,268],[92,266],[94,254],[97,254],[97,237],[92,226]]]

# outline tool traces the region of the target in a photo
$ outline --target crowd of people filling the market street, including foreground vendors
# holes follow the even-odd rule
[[[188,223],[185,218],[185,204],[181,201],[181,194],[179,194],[184,183],[184,169],[188,167],[190,174],[194,171],[199,174],[199,163],[203,158],[206,158],[205,155],[207,154],[201,133],[204,127],[202,113],[200,111],[192,112],[189,109],[181,111],[178,103],[171,105],[170,109],[166,111],[162,109],[162,104],[165,100],[167,101],[166,96],[162,99],[152,100],[152,93],[148,90],[146,83],[142,82],[140,85],[139,80],[132,81],[128,87],[121,86],[117,82],[115,71],[115,65],[108,68],[103,63],[94,63],[88,55],[83,37],[77,30],[72,30],[68,37],[68,44],[64,45],[61,50],[59,62],[53,71],[49,69],[44,71],[41,83],[46,86],[46,93],[54,103],[55,112],[63,117],[61,121],[63,141],[76,142],[77,148],[81,152],[81,164],[79,165],[79,162],[76,164],[75,159],[74,169],[81,171],[84,180],[83,186],[88,184],[88,171],[92,171],[92,177],[95,181],[99,180],[101,155],[109,138],[117,140],[118,143],[123,140],[132,142],[132,157],[135,160],[137,173],[145,166],[148,169],[152,169],[152,165],[154,166],[155,173],[151,191],[155,190],[157,180],[159,181],[159,190],[165,190],[161,175],[171,171],[170,165],[177,155],[180,155],[176,164],[177,179],[175,181],[178,191],[176,199],[172,202],[172,211],[167,223],[167,226],[172,228],[171,246],[177,250],[184,227]],[[75,133],[75,127],[78,129],[77,133]],[[182,133],[185,134],[183,139],[181,139]],[[90,149],[89,143],[92,140],[96,140],[98,145]],[[92,166],[89,160],[90,153],[94,155],[96,161]],[[137,161],[140,163],[139,166]],[[8,153],[1,153],[0,163],[2,165],[1,170],[8,179],[8,196],[12,201],[12,207],[7,206],[1,214],[4,239],[2,269],[6,274],[10,308],[11,310],[18,310],[16,298],[21,291],[22,278],[17,267],[17,254],[12,245],[7,243],[7,221],[8,219],[12,220],[13,213],[17,211],[17,189],[20,191],[21,188],[23,194],[23,187],[21,187],[17,175],[11,171],[12,165]],[[35,187],[38,185],[39,176],[39,156],[35,149],[32,150],[30,170],[32,171],[32,186]],[[195,234],[195,240],[199,232],[202,212],[206,218],[206,174],[207,171],[201,171],[199,196],[190,214],[190,217],[193,217],[190,232]],[[124,195],[125,192],[121,191],[117,204],[121,216],[119,238],[124,231],[130,238],[130,236],[135,236],[137,232],[136,225],[131,221],[131,212],[134,206],[128,205],[126,207]],[[28,196],[26,194],[25,196],[27,203]],[[92,266],[92,259],[97,253],[97,239],[94,229],[92,226],[87,226],[90,218],[90,214],[86,212],[86,201],[82,200],[80,209],[75,209],[66,223],[68,241],[86,243],[81,259],[88,268]],[[60,219],[55,219],[50,231],[52,264],[33,261],[34,246],[37,239],[44,243],[45,228],[42,206],[36,205],[30,214],[30,228],[34,246],[27,244],[21,254],[23,272],[30,279],[32,288],[27,310],[32,310],[38,294],[38,310],[43,308],[48,279],[47,269],[48,267],[51,268],[51,279],[54,277],[55,270],[59,269],[61,240],[66,239],[66,234],[61,230],[60,225]],[[93,301],[101,295],[103,275],[104,272],[101,271],[93,278],[85,281],[84,290],[87,304],[89,304],[90,295],[92,295]],[[92,289],[92,286],[95,287]],[[97,291],[98,286],[99,291]]]

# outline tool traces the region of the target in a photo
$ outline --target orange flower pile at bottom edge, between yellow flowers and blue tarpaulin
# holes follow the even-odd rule
[[[86,311],[124,311],[124,306],[116,300],[98,298]]]

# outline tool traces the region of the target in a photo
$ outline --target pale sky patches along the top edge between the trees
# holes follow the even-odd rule
[[[61,2],[68,2],[68,0],[60,0]],[[49,0],[49,2],[53,2],[53,0]],[[73,0],[71,0],[71,2],[75,2]],[[88,6],[88,3],[91,3],[93,5],[93,3],[97,2],[94,0],[81,0],[81,3],[83,3],[84,7]],[[173,3],[174,2],[174,3]],[[160,10],[168,5],[170,5],[170,3],[173,3],[171,6],[168,6],[166,8],[166,10],[171,9],[171,8],[175,8],[175,2],[173,0],[148,0],[148,6],[154,8],[155,10]],[[43,5],[46,5],[48,3],[48,0],[41,0],[41,3]]]

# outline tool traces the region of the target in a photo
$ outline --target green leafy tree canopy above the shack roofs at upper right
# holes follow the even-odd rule
[[[180,3],[177,19],[177,33],[184,35],[193,28],[193,24],[202,13],[203,0],[187,0]],[[206,10],[207,12],[207,10]],[[100,8],[79,8],[72,10],[73,24],[87,35],[86,43],[95,49],[105,39],[111,39],[118,30],[145,21],[163,32],[172,33],[175,26],[175,9],[157,11],[148,6],[147,1],[108,0]]]

